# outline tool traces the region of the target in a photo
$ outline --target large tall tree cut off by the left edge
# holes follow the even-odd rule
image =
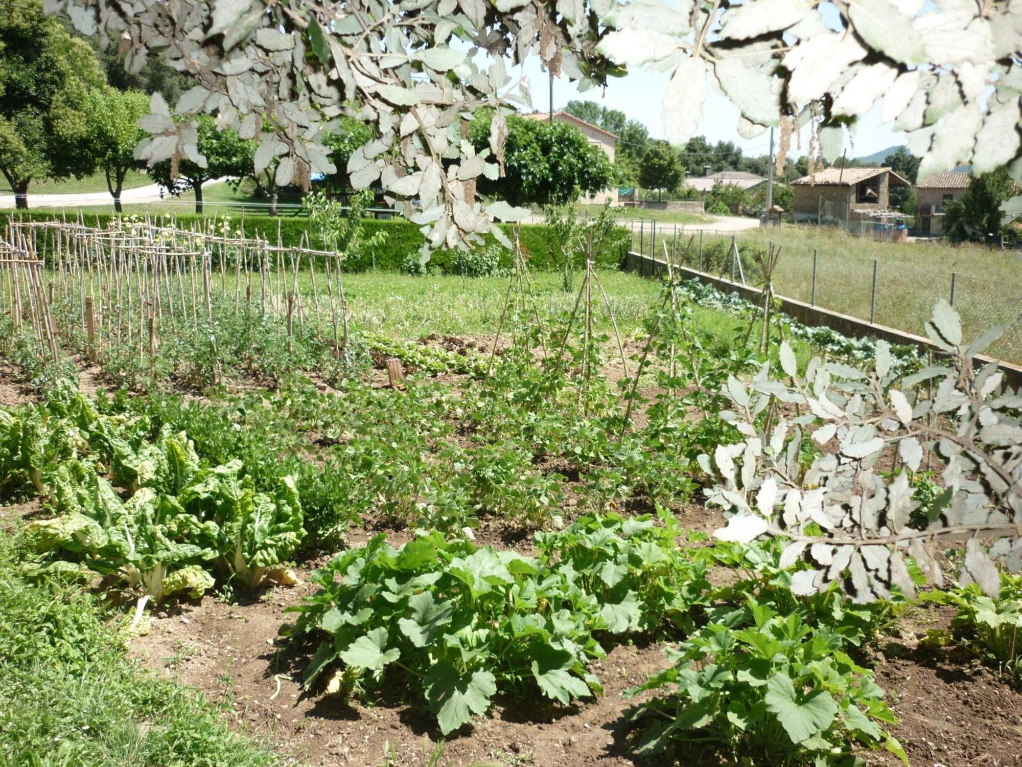
[[[83,109],[89,89],[103,85],[92,49],[42,2],[0,5],[0,173],[18,208],[33,179],[92,172]]]

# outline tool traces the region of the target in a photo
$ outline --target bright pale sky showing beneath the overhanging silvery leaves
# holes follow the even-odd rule
[[[512,79],[519,76],[519,70],[511,73]],[[547,74],[540,69],[538,56],[529,57],[521,71],[531,83],[532,106],[538,111],[546,111],[549,107],[549,80]],[[629,119],[638,120],[649,128],[654,138],[663,138],[663,123],[661,119],[662,97],[667,86],[667,76],[662,73],[632,72],[623,78],[612,78],[606,89],[593,88],[578,92],[575,83],[569,83],[567,78],[554,81],[554,108],[559,109],[571,99],[589,99],[620,109]],[[703,106],[703,118],[699,124],[699,133],[710,142],[733,141],[746,154],[765,154],[770,145],[770,136],[763,133],[752,140],[743,139],[736,130],[738,126],[738,109],[725,96],[710,89],[709,98]],[[807,133],[803,131],[801,149],[792,140],[790,155],[804,154],[808,148]],[[896,146],[904,142],[904,134],[892,131],[890,126],[880,124],[880,104],[874,106],[858,121],[858,127],[853,136],[853,145],[847,139],[845,146],[848,156],[860,157],[875,151]]]

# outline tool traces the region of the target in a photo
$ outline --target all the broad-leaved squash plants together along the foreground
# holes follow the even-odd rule
[[[307,687],[416,690],[445,734],[497,695],[602,694],[590,666],[606,642],[680,634],[673,665],[629,692],[655,693],[630,712],[639,753],[689,743],[736,761],[851,764],[856,750],[886,748],[904,759],[884,729],[895,721],[884,691],[852,658],[904,600],[856,606],[836,587],[797,597],[780,546],[680,549],[682,535],[667,512],[583,515],[537,533],[535,557],[425,532],[392,548],[379,535],[316,572],[320,590],[284,631],[319,640]],[[750,577],[712,587],[711,563]]]

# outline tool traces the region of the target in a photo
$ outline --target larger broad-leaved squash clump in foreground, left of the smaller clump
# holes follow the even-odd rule
[[[293,637],[328,637],[306,684],[341,664],[328,688],[379,689],[396,669],[421,679],[445,734],[499,691],[535,686],[565,705],[601,692],[588,670],[604,656],[597,633],[684,624],[703,598],[705,566],[675,554],[677,534],[648,515],[587,515],[538,535],[535,558],[435,532],[394,549],[378,535],[317,571],[320,591],[294,608]]]

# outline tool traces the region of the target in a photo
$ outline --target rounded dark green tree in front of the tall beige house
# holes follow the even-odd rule
[[[490,144],[494,114],[478,112],[469,135],[477,150]],[[509,117],[500,178],[495,167],[476,190],[513,206],[564,205],[579,193],[596,194],[617,182],[606,153],[567,123]]]

